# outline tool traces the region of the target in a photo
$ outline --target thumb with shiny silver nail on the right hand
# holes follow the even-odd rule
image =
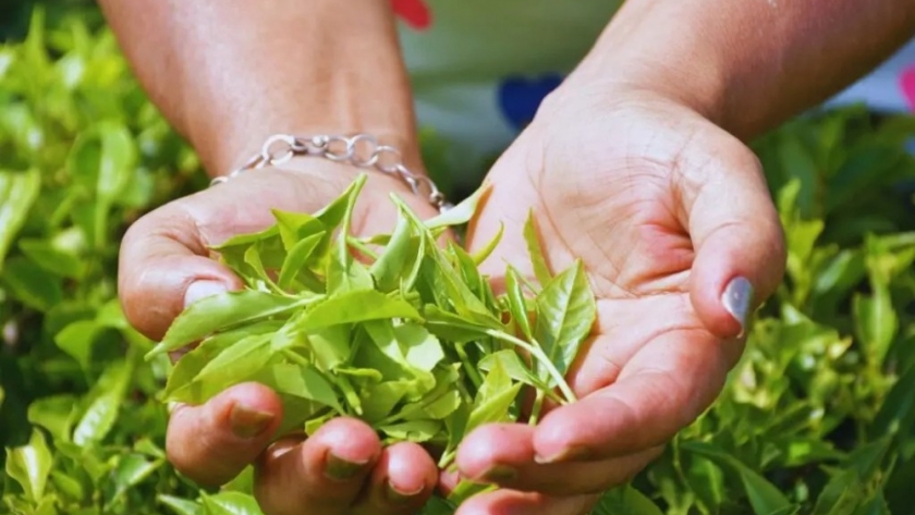
[[[782,280],[784,234],[748,148],[736,142],[705,167],[708,180],[683,194],[696,253],[690,295],[711,333],[735,338]]]

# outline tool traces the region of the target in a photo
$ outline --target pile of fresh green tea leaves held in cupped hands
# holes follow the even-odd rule
[[[213,247],[246,286],[188,306],[149,353],[193,346],[163,402],[200,404],[257,381],[283,401],[278,434],[356,417],[385,443],[438,450],[442,468],[480,425],[535,424],[546,398],[574,402],[563,377],[596,316],[581,261],[551,273],[532,212],[524,237],[536,277],[507,265],[497,295],[479,265],[502,232],[474,255],[446,234],[469,221],[485,186],[426,221],[392,194],[392,232],[356,237],[365,182],[315,213],[274,210],[276,224]],[[525,387],[536,392],[527,408]]]

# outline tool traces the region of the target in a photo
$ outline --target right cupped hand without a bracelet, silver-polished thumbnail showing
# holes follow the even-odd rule
[[[719,394],[747,318],[782,278],[781,225],[746,146],[644,90],[561,88],[488,181],[468,244],[505,223],[491,277],[505,261],[533,277],[533,209],[553,271],[583,260],[598,320],[568,376],[577,402],[463,442],[462,477],[503,488],[459,514],[587,513]]]

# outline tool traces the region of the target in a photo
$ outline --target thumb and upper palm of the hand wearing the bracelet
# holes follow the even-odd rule
[[[229,268],[210,259],[208,245],[271,225],[272,209],[315,212],[339,197],[358,173],[356,167],[303,158],[284,169],[243,174],[146,214],[121,243],[119,295],[127,320],[159,340],[191,302],[242,289]],[[392,230],[396,210],[390,192],[405,194],[404,200],[424,218],[435,213],[400,180],[371,173],[353,213],[355,233]]]

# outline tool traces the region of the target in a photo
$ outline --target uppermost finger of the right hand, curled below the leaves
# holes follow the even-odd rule
[[[667,443],[723,388],[732,363],[725,346],[701,327],[658,335],[613,383],[544,417],[536,461],[605,459]]]

